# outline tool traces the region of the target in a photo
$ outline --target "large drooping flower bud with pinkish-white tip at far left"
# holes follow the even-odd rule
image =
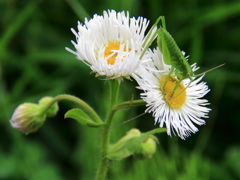
[[[10,120],[13,128],[29,134],[37,131],[44,123],[46,114],[41,113],[41,107],[34,103],[19,105]]]

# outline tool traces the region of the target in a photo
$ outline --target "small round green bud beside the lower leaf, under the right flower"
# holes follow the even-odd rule
[[[138,151],[136,151],[135,155],[142,159],[151,158],[152,155],[156,152],[157,142],[157,138],[153,135],[150,135],[145,141],[141,143],[140,148]]]

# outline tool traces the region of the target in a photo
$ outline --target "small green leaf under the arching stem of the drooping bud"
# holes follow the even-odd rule
[[[67,111],[64,118],[75,119],[80,124],[88,127],[99,127],[103,125],[103,123],[94,122],[83,110],[78,108]]]

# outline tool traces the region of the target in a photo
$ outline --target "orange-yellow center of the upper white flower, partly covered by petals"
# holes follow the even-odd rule
[[[116,57],[118,55],[117,52],[114,52],[116,50],[120,49],[120,42],[119,41],[108,41],[108,44],[106,45],[106,49],[104,51],[104,57],[107,58],[107,62],[110,65],[115,64]],[[123,51],[126,51],[126,47],[124,46]]]

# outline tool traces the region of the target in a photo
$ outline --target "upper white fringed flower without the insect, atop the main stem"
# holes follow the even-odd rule
[[[84,24],[78,22],[78,32],[72,41],[76,51],[69,52],[86,63],[96,76],[109,79],[129,77],[140,63],[145,31],[149,21],[143,17],[129,18],[129,13],[104,11]]]

